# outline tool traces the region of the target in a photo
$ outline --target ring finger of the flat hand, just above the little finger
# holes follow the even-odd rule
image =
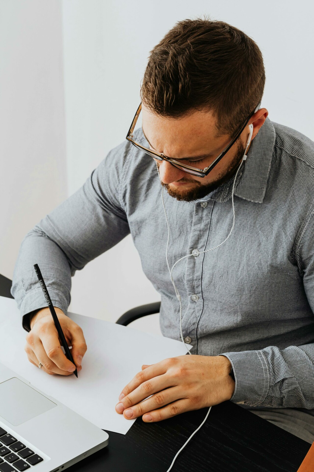
[[[123,412],[123,416],[127,419],[137,418],[142,416],[144,413],[151,412],[156,408],[161,406],[168,405],[171,402],[174,402],[182,398],[182,389],[179,387],[166,388],[161,392],[155,393],[153,396],[150,396],[143,402],[138,403],[137,405],[127,408]]]

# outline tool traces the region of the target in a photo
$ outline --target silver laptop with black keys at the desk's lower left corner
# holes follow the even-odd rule
[[[108,444],[108,434],[0,363],[0,471],[57,472]]]

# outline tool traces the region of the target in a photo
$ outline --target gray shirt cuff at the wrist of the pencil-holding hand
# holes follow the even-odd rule
[[[65,296],[58,292],[57,290],[52,289],[51,287],[48,288],[49,296],[51,298],[51,302],[53,306],[60,308],[67,315],[68,311],[68,304]],[[31,292],[28,292],[21,303],[20,306],[20,314],[21,314],[21,321],[22,326],[25,331],[30,331],[31,327],[29,324],[30,314],[36,310],[40,310],[41,308],[48,308],[48,304],[45,298],[45,295],[40,289],[34,289]]]

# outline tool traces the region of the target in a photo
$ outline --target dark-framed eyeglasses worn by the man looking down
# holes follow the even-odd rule
[[[219,154],[219,156],[208,166],[208,167],[205,167],[205,169],[197,169],[196,167],[191,167],[191,166],[188,166],[186,164],[182,164],[180,163],[179,161],[177,160],[174,160],[174,159],[171,159],[170,157],[167,157],[165,156],[163,153],[159,153],[159,152],[156,152],[156,151],[153,151],[152,149],[148,149],[146,148],[145,146],[143,146],[142,144],[140,143],[137,143],[134,138],[133,138],[133,130],[135,128],[135,125],[136,125],[136,122],[137,122],[137,118],[140,114],[140,111],[142,109],[142,102],[139,104],[139,107],[137,109],[137,112],[135,114],[135,117],[133,118],[133,121],[132,121],[132,124],[129,128],[129,132],[126,136],[126,139],[132,143],[135,147],[137,147],[137,149],[139,149],[140,151],[144,151],[146,154],[148,154],[149,156],[153,157],[153,159],[157,159],[157,160],[166,160],[167,162],[169,162],[170,164],[172,164],[173,166],[177,167],[178,169],[181,169],[183,170],[184,172],[187,172],[188,174],[192,174],[194,176],[197,176],[197,177],[205,177],[209,174],[209,172],[214,169],[214,167],[218,164],[219,160],[222,159],[224,157],[224,155],[229,151],[229,149],[232,147],[232,145],[236,142],[236,140],[238,139],[238,137],[241,135],[243,129],[245,128],[245,126],[248,124],[250,118],[254,115],[254,113],[259,109],[261,105],[261,102],[258,103],[258,106],[255,108],[255,110],[250,114],[250,116],[245,120],[245,123],[243,124],[243,126],[241,127],[240,131],[235,135],[235,137],[233,138],[233,140],[225,147],[225,149],[223,150],[223,152],[221,152]]]

